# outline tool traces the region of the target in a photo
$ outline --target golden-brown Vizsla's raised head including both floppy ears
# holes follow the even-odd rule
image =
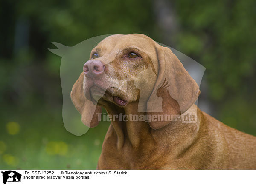
[[[141,112],[182,114],[199,93],[197,83],[169,48],[142,34],[118,34],[106,37],[93,48],[73,85],[71,98],[82,122],[94,127],[99,122],[95,114],[101,111],[100,107],[125,108],[137,101],[140,103],[136,108]],[[170,97],[178,106],[165,100]],[[172,112],[166,112],[168,108],[163,104]],[[180,110],[174,111],[172,107]],[[150,126],[156,129],[166,124],[154,122]]]

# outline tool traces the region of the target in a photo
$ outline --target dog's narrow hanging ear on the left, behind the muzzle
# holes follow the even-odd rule
[[[84,95],[84,73],[81,73],[76,83],[73,85],[71,91],[71,100],[76,109],[82,116],[82,122],[84,125],[93,128],[99,124],[100,117],[97,113],[102,113],[102,109],[99,106],[93,105],[93,102],[87,100]]]

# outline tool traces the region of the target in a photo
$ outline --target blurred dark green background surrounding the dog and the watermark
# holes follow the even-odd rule
[[[255,0],[1,0],[0,169],[95,169],[109,123],[62,122],[61,57],[103,34],[146,34],[206,68],[199,107],[256,135]]]

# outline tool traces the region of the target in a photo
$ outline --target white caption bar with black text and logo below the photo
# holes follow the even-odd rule
[[[256,170],[0,170],[6,185],[216,185],[255,183]]]

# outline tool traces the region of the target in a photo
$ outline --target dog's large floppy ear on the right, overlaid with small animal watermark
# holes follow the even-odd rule
[[[183,114],[195,103],[200,94],[195,80],[168,47],[158,45],[156,51],[159,71],[147,102],[147,114],[151,114],[152,120],[149,125],[153,129],[159,129],[171,123],[163,120],[163,117],[165,115],[178,117]],[[153,114],[160,116],[157,118],[154,116],[152,119]]]

